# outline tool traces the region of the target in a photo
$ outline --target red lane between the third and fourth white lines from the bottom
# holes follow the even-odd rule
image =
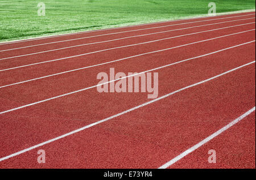
[[[228,36],[224,38],[218,38],[211,41],[200,42],[198,44],[192,44],[188,46],[183,46],[181,48],[170,49],[164,52],[158,52],[154,54],[146,54],[141,57],[135,57],[126,59],[125,61],[116,62],[114,64],[107,64],[103,66],[97,66],[93,68],[88,68],[81,71],[68,72],[65,74],[51,76],[44,79],[34,80],[27,83],[11,85],[9,87],[0,88],[1,97],[3,98],[2,102],[6,104],[2,106],[1,111],[5,111],[8,109],[16,108],[16,106],[22,106],[26,104],[30,104],[36,101],[44,100],[46,98],[51,98],[55,96],[59,96],[65,93],[77,91],[79,89],[83,89],[86,87],[91,87],[93,85],[97,85],[100,80],[97,79],[97,74],[99,72],[109,73],[109,69],[114,67],[116,72],[142,72],[146,70],[151,70],[152,68],[161,67],[164,65],[168,65],[170,63],[182,61],[184,59],[197,57],[199,55],[204,55],[212,52],[216,52],[221,49],[230,48],[235,45],[240,45],[245,42],[250,42],[255,40],[255,31],[246,32],[234,36]],[[195,41],[195,40],[193,40]],[[225,41],[225,43],[222,43]],[[170,42],[166,42],[170,44]],[[185,42],[184,42],[185,44]],[[161,44],[159,44],[161,46]],[[254,59],[255,52],[253,51],[254,43],[251,43],[249,47],[252,50],[248,53],[247,50],[238,53],[238,55],[246,56],[245,58]],[[145,48],[143,46],[143,48]],[[163,47],[160,47],[164,49]],[[166,47],[165,47],[166,48]],[[147,47],[146,47],[147,49]],[[238,48],[239,49],[239,48]],[[230,49],[232,52],[233,50]],[[236,50],[236,48],[234,49]],[[189,53],[184,53],[189,52]],[[119,52],[121,53],[121,52]],[[116,53],[116,54],[119,54]],[[112,56],[112,54],[102,54],[106,56]],[[127,57],[127,56],[126,56]],[[104,58],[100,58],[104,59]],[[19,71],[24,75],[28,76],[25,80],[31,78],[31,74],[33,72],[44,72],[47,75],[51,74],[51,71],[61,70],[63,67],[72,66],[71,64],[61,64],[61,62],[52,63],[51,67],[45,67],[43,69],[38,68],[38,70],[32,70],[31,68],[28,71]],[[54,66],[55,65],[55,66]],[[69,67],[70,68],[70,67]],[[8,71],[7,71],[8,72]],[[12,71],[10,71],[12,72]],[[16,83],[22,76],[15,74],[16,70],[14,70],[13,74],[5,75],[5,78],[2,78],[3,83],[8,83],[6,79],[14,79]],[[1,72],[4,74],[5,72]],[[2,82],[2,81],[1,81]],[[72,84],[71,84],[72,82]],[[3,84],[6,85],[6,84]],[[14,93],[15,92],[15,93]],[[20,96],[22,94],[22,96]],[[11,96],[10,96],[11,95]],[[7,97],[7,98],[6,98]],[[82,118],[82,117],[80,117]],[[80,119],[79,118],[79,119]]]

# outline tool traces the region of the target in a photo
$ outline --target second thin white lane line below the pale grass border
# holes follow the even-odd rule
[[[75,46],[68,46],[68,47],[65,47],[65,48],[58,48],[58,49],[46,50],[46,51],[43,51],[43,52],[36,52],[36,53],[30,53],[30,54],[16,55],[16,56],[13,56],[13,57],[2,58],[2,59],[0,59],[0,60],[11,59],[11,58],[18,58],[18,57],[24,57],[24,56],[27,56],[27,55],[35,55],[35,54],[53,52],[53,51],[56,51],[56,50],[63,50],[63,49],[69,49],[69,48],[76,48],[76,47],[85,46],[85,45],[93,45],[93,44],[100,44],[100,43],[104,43],[104,42],[112,42],[112,41],[117,41],[117,40],[124,40],[124,39],[127,39],[127,38],[134,38],[134,37],[141,37],[141,36],[148,36],[148,35],[156,35],[156,34],[159,34],[159,33],[166,33],[166,32],[172,32],[172,31],[180,31],[180,30],[184,30],[184,29],[191,29],[191,28],[197,28],[197,27],[204,27],[204,26],[208,26],[208,25],[223,24],[223,23],[229,23],[229,22],[237,22],[237,21],[240,21],[240,20],[248,20],[248,19],[255,19],[255,18],[231,20],[231,21],[228,21],[228,22],[220,22],[220,23],[213,23],[213,24],[197,25],[197,26],[187,27],[187,28],[171,29],[171,30],[168,30],[168,31],[160,31],[160,32],[148,33],[148,34],[137,35],[137,36],[129,36],[129,37],[123,37],[123,38],[116,38],[116,39],[113,39],[113,40],[91,42],[91,43],[88,43],[88,44],[80,44],[80,45],[75,45]],[[249,24],[249,23],[247,23],[247,24]],[[69,40],[68,40],[68,41],[69,41]],[[61,41],[59,41],[59,42],[61,42]],[[53,43],[55,43],[55,42],[53,42]],[[48,44],[48,43],[47,43],[47,44]],[[52,42],[49,42],[49,44],[52,44]],[[40,44],[40,45],[45,45],[45,44]],[[32,46],[38,46],[38,45],[32,45]],[[32,47],[32,46],[26,46],[26,47],[21,47],[21,48],[0,50],[0,52],[6,52],[6,51],[10,51],[10,50],[15,50],[15,49],[30,48],[30,47]]]

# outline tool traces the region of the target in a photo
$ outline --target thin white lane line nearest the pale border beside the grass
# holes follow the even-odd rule
[[[254,18],[247,18],[247,19],[255,19],[255,17],[254,17]],[[236,22],[236,21],[240,21],[240,20],[246,20],[246,19],[230,20],[230,21],[228,21],[228,22]],[[204,21],[209,21],[209,20],[204,20]],[[200,22],[201,22],[201,21],[200,21]],[[228,23],[228,22],[221,22],[221,23]],[[197,23],[197,22],[191,22],[191,23]],[[197,25],[197,26],[195,26],[195,27],[203,27],[203,26],[207,26],[207,25],[214,25],[214,24],[221,24],[221,23]],[[20,47],[20,48],[13,48],[13,49],[0,50],[0,52],[6,52],[6,51],[16,50],[16,49],[31,48],[31,47],[35,47],[35,46],[41,46],[41,45],[56,44],[56,43],[59,43],[59,42],[68,42],[68,41],[82,40],[82,39],[85,39],[85,38],[101,37],[101,36],[108,36],[108,35],[117,35],[117,34],[126,33],[126,32],[134,32],[134,31],[143,31],[143,30],[147,30],[147,29],[156,29],[156,28],[163,28],[163,27],[171,27],[171,26],[174,26],[174,25],[183,25],[183,24],[188,24],[188,23],[164,25],[164,26],[160,26],[160,27],[136,29],[136,30],[130,30],[130,31],[123,31],[123,32],[107,33],[107,34],[104,34],[104,35],[96,35],[96,36],[88,36],[88,37],[73,38],[73,39],[70,39],[70,40],[62,40],[62,41],[55,41],[55,42],[47,42],[47,43],[43,43],[43,44],[36,44],[36,45],[30,45],[30,46],[22,46],[22,47]],[[181,29],[190,29],[190,28],[195,28],[195,27],[188,27],[188,28],[181,28]],[[181,30],[181,29],[177,29],[177,30]],[[174,31],[175,31],[175,30],[174,30]]]

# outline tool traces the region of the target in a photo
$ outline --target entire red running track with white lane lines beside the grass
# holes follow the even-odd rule
[[[98,93],[112,67],[158,98]],[[0,168],[255,168],[255,12],[5,42],[0,92]]]

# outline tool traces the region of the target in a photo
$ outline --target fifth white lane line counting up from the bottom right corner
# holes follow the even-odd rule
[[[49,60],[49,61],[42,61],[42,62],[38,62],[38,63],[32,63],[32,64],[29,64],[29,65],[23,65],[23,66],[16,66],[16,67],[11,67],[11,68],[6,68],[6,69],[3,69],[3,70],[0,70],[0,72],[2,72],[2,71],[8,71],[8,70],[14,70],[14,69],[16,69],[16,68],[22,68],[22,67],[27,67],[27,66],[40,65],[40,64],[48,63],[48,62],[61,61],[61,60],[63,60],[63,59],[75,58],[75,57],[80,57],[80,56],[84,56],[84,55],[88,55],[88,54],[106,52],[106,51],[108,51],[108,50],[127,48],[127,47],[131,47],[131,46],[137,46],[137,45],[142,45],[142,44],[148,44],[148,43],[152,43],[152,42],[158,42],[158,41],[163,41],[163,40],[169,40],[169,39],[177,38],[177,37],[183,37],[183,36],[189,36],[189,35],[196,35],[196,34],[198,34],[198,33],[216,31],[216,30],[220,30],[220,29],[238,27],[238,26],[241,26],[241,25],[254,24],[254,23],[255,23],[255,22],[253,22],[253,23],[246,23],[246,24],[240,24],[240,25],[233,25],[233,26],[224,27],[224,28],[210,29],[210,30],[208,30],[208,31],[201,31],[201,32],[196,32],[196,33],[190,33],[190,34],[187,34],[187,35],[180,35],[180,36],[162,38],[162,39],[154,40],[154,41],[141,42],[141,43],[138,43],[138,44],[131,44],[131,45],[126,45],[126,46],[119,46],[119,47],[110,48],[110,49],[103,49],[103,50],[98,50],[98,51],[96,51],[96,52],[84,53],[84,54],[79,54],[79,55],[73,55],[73,56],[70,56],[70,57],[64,57],[64,58],[59,58],[59,59],[52,59],[52,60]]]

